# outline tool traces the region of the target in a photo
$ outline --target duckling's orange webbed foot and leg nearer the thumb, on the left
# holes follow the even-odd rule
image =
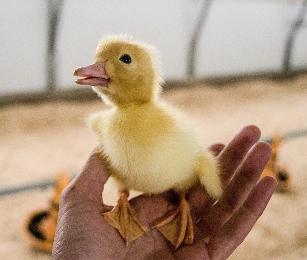
[[[107,223],[118,229],[127,245],[147,231],[147,227],[144,226],[130,206],[128,196],[129,191],[119,191],[119,199],[115,207],[111,211],[102,214]]]

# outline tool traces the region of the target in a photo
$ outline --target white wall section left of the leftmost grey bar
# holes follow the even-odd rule
[[[46,1],[0,0],[0,94],[42,90]]]

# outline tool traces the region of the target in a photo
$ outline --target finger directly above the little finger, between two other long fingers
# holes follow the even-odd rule
[[[212,206],[201,220],[203,229],[214,234],[243,204],[251,190],[255,187],[266,163],[270,159],[272,149],[269,144],[260,142],[255,144],[244,158],[227,185],[218,203]],[[219,216],[216,219],[215,216]]]

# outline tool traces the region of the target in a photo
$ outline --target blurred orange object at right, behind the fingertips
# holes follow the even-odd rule
[[[279,133],[274,134],[272,141],[272,156],[269,162],[266,164],[260,179],[264,176],[273,176],[278,181],[276,191],[290,191],[291,187],[291,176],[285,165],[277,163],[277,157],[279,149],[282,145],[282,136]]]

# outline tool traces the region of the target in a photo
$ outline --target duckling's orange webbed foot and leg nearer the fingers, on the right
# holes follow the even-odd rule
[[[190,205],[185,199],[185,192],[179,193],[180,203],[161,220],[154,224],[167,238],[175,249],[181,245],[192,244],[194,238],[193,223],[190,212]]]

